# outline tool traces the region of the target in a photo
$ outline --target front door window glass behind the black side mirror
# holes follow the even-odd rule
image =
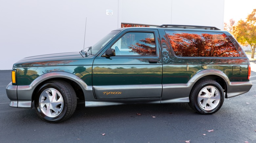
[[[128,32],[111,47],[116,56],[156,56],[154,33]]]

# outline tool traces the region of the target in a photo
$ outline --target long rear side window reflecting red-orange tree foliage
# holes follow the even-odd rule
[[[239,57],[229,38],[220,32],[165,30],[176,56]]]

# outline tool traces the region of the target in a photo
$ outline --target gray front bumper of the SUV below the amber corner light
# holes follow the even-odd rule
[[[10,99],[10,107],[32,108],[32,90],[28,86],[16,86],[10,83],[6,87],[6,94]]]

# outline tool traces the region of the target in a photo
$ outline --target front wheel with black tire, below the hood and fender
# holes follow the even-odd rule
[[[62,80],[52,80],[45,83],[38,90],[34,100],[38,116],[51,123],[70,118],[75,112],[76,104],[75,90],[70,84]]]

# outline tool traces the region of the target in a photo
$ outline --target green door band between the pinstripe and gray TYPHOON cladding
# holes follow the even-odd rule
[[[161,84],[162,66],[116,65],[94,66],[93,85],[146,85]]]

